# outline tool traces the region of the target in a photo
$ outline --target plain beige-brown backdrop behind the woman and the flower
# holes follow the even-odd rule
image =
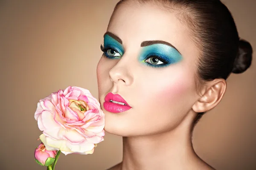
[[[118,0],[0,0],[0,169],[46,170],[34,161],[39,99],[67,86],[98,96],[100,44]],[[240,37],[256,51],[256,1],[224,0]],[[256,56],[232,74],[221,103],[195,127],[194,146],[218,170],[256,169]],[[2,86],[3,85],[3,86]],[[122,160],[122,138],[106,134],[92,155],[61,154],[57,170],[104,170]]]

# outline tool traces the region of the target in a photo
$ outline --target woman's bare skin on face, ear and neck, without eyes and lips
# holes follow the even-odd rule
[[[218,105],[227,84],[215,79],[201,84],[198,93],[196,60],[200,51],[190,39],[189,29],[175,12],[164,12],[150,3],[125,3],[111,17],[107,31],[122,41],[117,46],[123,48],[123,54],[99,60],[99,102],[105,130],[123,136],[123,160],[109,170],[213,169],[192,147],[192,125],[198,112]],[[145,65],[140,60],[145,48],[141,43],[151,40],[170,43],[182,59],[163,68]],[[103,102],[109,92],[121,95],[132,108],[121,113],[106,111]]]

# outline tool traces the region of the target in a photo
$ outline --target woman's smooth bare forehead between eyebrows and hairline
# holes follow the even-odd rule
[[[108,31],[120,37],[124,46],[140,46],[146,40],[163,40],[183,51],[184,42],[191,43],[189,28],[175,14],[175,11],[166,11],[152,3],[130,1],[116,9]]]

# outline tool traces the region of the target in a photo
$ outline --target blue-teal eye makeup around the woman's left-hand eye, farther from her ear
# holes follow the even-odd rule
[[[101,50],[104,52],[105,57],[108,57],[110,59],[117,59],[124,54],[124,48],[122,44],[120,44],[108,34],[105,34],[104,36],[104,45],[101,45]],[[114,53],[114,56],[110,55],[111,53]],[[118,55],[118,53],[119,56],[115,56],[115,54]]]

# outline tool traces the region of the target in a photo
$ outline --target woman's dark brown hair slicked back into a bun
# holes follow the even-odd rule
[[[120,0],[115,9],[125,1],[127,0]],[[227,79],[230,73],[242,73],[250,67],[252,47],[249,42],[239,39],[234,19],[220,0],[134,1],[152,2],[166,9],[175,10],[176,17],[192,28],[192,40],[201,51],[197,61],[199,81]],[[204,113],[198,113],[194,125]]]

